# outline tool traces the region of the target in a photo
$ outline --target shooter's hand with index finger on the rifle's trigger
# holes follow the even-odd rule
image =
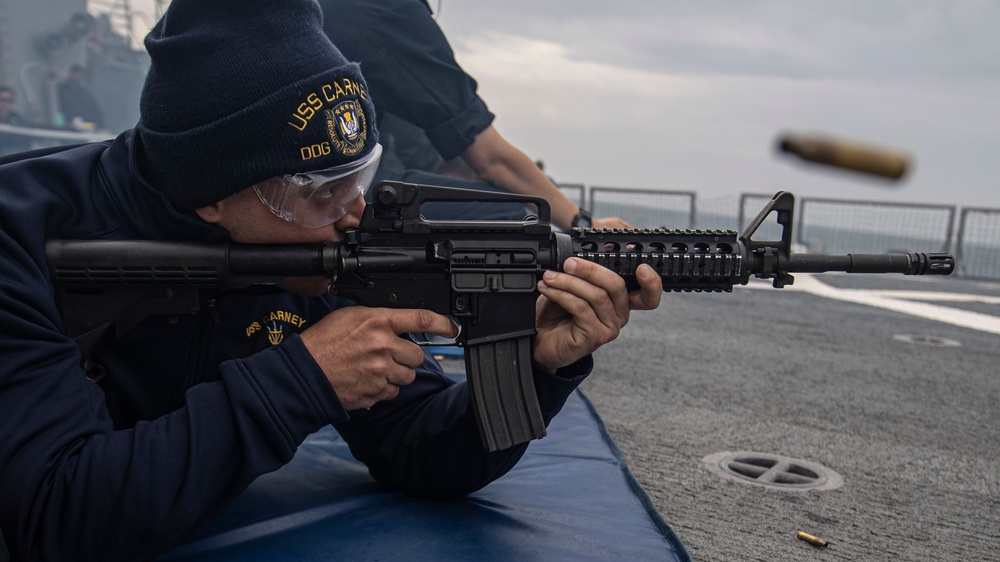
[[[302,332],[302,342],[351,411],[395,398],[413,382],[424,352],[399,337],[411,332],[455,337],[458,327],[428,310],[349,306]]]

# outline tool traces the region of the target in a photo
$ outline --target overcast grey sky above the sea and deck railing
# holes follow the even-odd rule
[[[437,0],[430,0],[437,7]],[[1000,3],[443,0],[496,127],[563,182],[1000,208]],[[783,131],[904,149],[892,183]]]

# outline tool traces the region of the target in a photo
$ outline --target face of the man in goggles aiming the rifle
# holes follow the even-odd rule
[[[197,209],[196,212],[202,219],[226,229],[233,242],[295,244],[339,242],[344,239],[345,230],[358,226],[364,210],[364,195],[359,195],[347,214],[333,224],[306,227],[275,215],[251,187],[214,205]],[[288,277],[278,283],[278,286],[296,294],[315,296],[326,292],[330,280],[320,276]]]

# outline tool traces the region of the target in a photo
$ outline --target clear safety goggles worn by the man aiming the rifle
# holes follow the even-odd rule
[[[371,186],[382,145],[364,158],[326,170],[270,178],[254,186],[271,212],[310,228],[343,218]]]

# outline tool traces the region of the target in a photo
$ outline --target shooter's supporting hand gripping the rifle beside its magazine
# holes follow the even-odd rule
[[[618,337],[632,310],[659,306],[663,282],[648,265],[636,271],[640,288],[631,293],[610,269],[571,258],[563,272],[546,271],[538,289],[533,354],[554,372]]]

